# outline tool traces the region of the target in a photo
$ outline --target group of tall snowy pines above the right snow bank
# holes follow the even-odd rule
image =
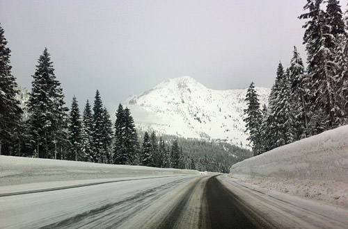
[[[254,155],[348,124],[348,11],[343,17],[337,0],[307,0],[303,9],[308,66],[294,47],[290,66],[278,64],[268,107],[260,108],[254,83],[248,88]]]

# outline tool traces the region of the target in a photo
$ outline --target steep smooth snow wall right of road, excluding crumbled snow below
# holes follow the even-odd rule
[[[230,173],[348,183],[348,126],[234,164]]]

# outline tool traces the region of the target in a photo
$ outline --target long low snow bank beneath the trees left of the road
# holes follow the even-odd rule
[[[180,174],[198,174],[198,171],[0,155],[0,186]]]

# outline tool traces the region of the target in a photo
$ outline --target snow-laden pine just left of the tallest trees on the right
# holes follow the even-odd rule
[[[310,93],[310,85],[308,75],[305,73],[303,61],[299,52],[294,46],[294,56],[290,62],[290,97],[293,103],[294,125],[292,135],[294,140],[303,139],[307,135],[308,120],[310,117],[310,105],[308,98]]]

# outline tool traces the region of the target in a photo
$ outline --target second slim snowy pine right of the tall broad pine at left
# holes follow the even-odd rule
[[[81,160],[93,161],[93,115],[89,101],[86,101],[81,123]]]

